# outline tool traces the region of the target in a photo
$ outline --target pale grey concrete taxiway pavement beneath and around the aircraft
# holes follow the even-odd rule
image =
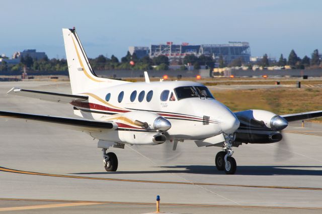
[[[2,82],[2,111],[76,117],[68,104],[5,96],[13,86],[70,93],[67,82]],[[322,212],[322,126],[293,123],[284,144],[235,148],[235,175],[214,167],[220,148],[179,143],[111,149],[117,172],[102,165],[97,140],[76,131],[21,120],[0,120],[0,211],[177,213]],[[16,208],[15,208],[16,207]],[[20,208],[17,208],[20,207]]]

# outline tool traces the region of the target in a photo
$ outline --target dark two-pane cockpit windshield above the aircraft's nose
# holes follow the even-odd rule
[[[190,97],[213,98],[205,86],[183,86],[175,88],[178,100]]]

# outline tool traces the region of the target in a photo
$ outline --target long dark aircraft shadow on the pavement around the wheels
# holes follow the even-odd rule
[[[161,166],[162,170],[151,171],[116,171],[116,172],[80,172],[77,175],[90,174],[159,174],[159,173],[189,173],[189,174],[225,174],[214,166]],[[165,170],[165,168],[167,168]],[[311,169],[315,168],[315,169]],[[236,175],[319,175],[322,176],[322,166],[237,166]]]

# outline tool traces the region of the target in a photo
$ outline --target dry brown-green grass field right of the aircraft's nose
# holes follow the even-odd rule
[[[232,111],[261,109],[285,115],[322,110],[320,88],[273,88],[212,91]]]

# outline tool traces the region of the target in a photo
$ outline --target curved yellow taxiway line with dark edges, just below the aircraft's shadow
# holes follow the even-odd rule
[[[132,180],[132,179],[119,179],[119,178],[84,177],[84,176],[74,176],[74,175],[59,175],[59,174],[47,174],[47,173],[40,173],[40,172],[21,171],[21,170],[9,169],[5,167],[0,167],[0,171],[12,172],[12,173],[18,173],[18,174],[27,174],[27,175],[40,175],[40,176],[90,179],[90,180],[109,180],[109,181],[121,181],[121,182],[137,182],[137,183],[164,183],[164,184],[253,187],[253,188],[271,188],[271,189],[322,190],[322,188],[320,187],[262,186],[262,185],[243,185],[243,184],[197,183],[197,182],[179,182],[179,181]]]

